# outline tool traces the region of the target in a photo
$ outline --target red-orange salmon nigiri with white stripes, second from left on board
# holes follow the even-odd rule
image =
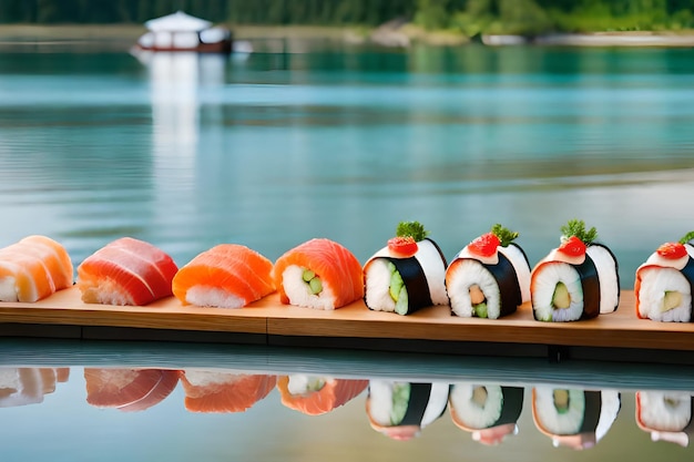
[[[172,295],[178,267],[150,243],[122,237],[96,250],[78,267],[76,285],[85,304],[147,305]]]

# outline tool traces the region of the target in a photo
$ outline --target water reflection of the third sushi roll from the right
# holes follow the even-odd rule
[[[453,383],[448,398],[451,419],[471,432],[474,441],[499,444],[507,435],[518,433],[523,392],[518,387]]]

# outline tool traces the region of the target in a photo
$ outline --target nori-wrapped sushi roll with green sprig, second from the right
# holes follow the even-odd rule
[[[614,311],[620,279],[614,254],[582,220],[562,226],[561,245],[532,269],[532,312],[540,321],[576,321]]]

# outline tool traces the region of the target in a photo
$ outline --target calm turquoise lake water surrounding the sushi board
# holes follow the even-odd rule
[[[622,288],[631,289],[636,267],[661,243],[694,229],[694,50],[258,49],[245,59],[0,49],[0,246],[44,234],[79,264],[127,235],[183,265],[223,242],[275,259],[312,237],[328,237],[365,261],[398,222],[416,219],[449,258],[501,223],[520,233],[518,244],[534,264],[558,245],[560,227],[580,218],[616,255]],[[108,360],[81,356],[102,346],[60,348],[0,343],[7,380],[20,377],[19,367],[29,368],[21,377],[69,369],[69,379],[54,373],[43,392],[34,383],[42,403],[4,401],[14,404],[0,409],[1,460],[694,455],[691,445],[652,441],[636,425],[641,388],[671,390],[677,377],[650,374],[647,367],[624,371],[616,383],[601,381],[608,371],[600,365],[557,378],[561,368],[548,372],[545,363],[531,362],[528,370],[549,373],[538,374],[537,383],[523,370],[492,378],[519,386],[525,399],[518,435],[490,448],[457,428],[449,410],[419,438],[388,439],[369,425],[366,390],[320,417],[284,407],[276,389],[246,412],[194,413],[184,408],[181,383],[146,411],[98,409],[85,400],[88,368],[125,361],[129,368],[247,372],[248,365],[234,362],[245,350],[223,350],[231,361],[225,366],[204,355],[196,363],[197,356],[180,350],[166,361],[150,351],[137,363],[120,353],[124,346],[105,349]],[[398,356],[395,366],[389,358],[360,358],[365,370],[356,373],[345,370],[348,353],[325,361],[314,355],[308,363],[323,365],[328,376],[382,379],[378,365],[387,366],[386,379],[461,376],[455,359],[445,365],[448,374],[437,377],[420,358]],[[306,369],[292,357],[273,363],[282,351],[261,358],[267,376]],[[469,368],[466,379],[489,379],[489,369],[460,361]],[[682,373],[676,391],[691,401],[692,371]],[[567,381],[622,392],[614,423],[588,451],[553,448],[532,420],[532,388],[567,388]],[[0,386],[0,402],[3,397]]]

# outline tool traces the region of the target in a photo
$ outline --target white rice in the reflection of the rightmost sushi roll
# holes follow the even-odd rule
[[[692,421],[692,397],[685,392],[640,391],[639,418],[657,431],[684,430]]]

